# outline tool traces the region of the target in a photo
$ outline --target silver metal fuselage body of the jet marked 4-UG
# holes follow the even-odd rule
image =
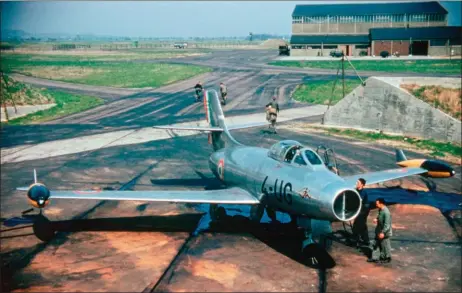
[[[249,191],[273,210],[329,221],[347,221],[359,212],[357,192],[325,165],[281,162],[268,149],[232,146],[212,153],[209,167],[227,186]]]

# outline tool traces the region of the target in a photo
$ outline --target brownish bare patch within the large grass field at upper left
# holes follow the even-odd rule
[[[46,66],[37,68],[25,68],[23,73],[46,79],[62,80],[68,78],[83,78],[90,74],[104,73],[103,69],[95,69],[90,67],[75,67],[75,66]]]

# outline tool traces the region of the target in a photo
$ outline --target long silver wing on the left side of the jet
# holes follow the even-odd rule
[[[220,190],[168,191],[168,190],[76,190],[50,191],[50,198],[137,200],[171,203],[259,204],[260,201],[244,189],[233,187]]]

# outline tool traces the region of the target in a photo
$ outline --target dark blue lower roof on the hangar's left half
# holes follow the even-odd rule
[[[369,35],[319,35],[297,36],[290,38],[290,44],[369,44]]]

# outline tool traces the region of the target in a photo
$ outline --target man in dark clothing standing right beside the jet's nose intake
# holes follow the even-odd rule
[[[361,244],[369,246],[369,232],[367,229],[367,217],[369,216],[369,202],[367,191],[364,189],[366,180],[359,178],[356,182],[356,190],[362,199],[362,206],[359,215],[353,222],[353,240],[355,241],[356,248],[359,248]]]

